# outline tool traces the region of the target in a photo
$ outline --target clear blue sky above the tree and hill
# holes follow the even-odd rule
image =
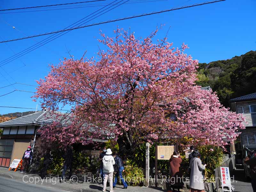
[[[20,12],[28,10],[8,11],[20,13],[0,14],[0,39],[14,39],[65,28],[102,8],[102,6],[98,5],[106,5],[112,1],[106,0],[94,3],[51,7],[51,9],[56,9],[91,6],[76,9],[42,12]],[[2,0],[0,9],[70,2],[79,1]],[[129,2],[130,4],[123,4],[87,24],[200,3],[204,2],[204,0],[130,0]],[[99,30],[101,29],[106,35],[112,36],[112,31],[116,29],[116,26],[127,30],[131,27],[131,31],[135,32],[136,37],[146,37],[157,25],[165,24],[159,30],[155,40],[157,38],[163,38],[169,26],[171,26],[167,35],[168,41],[173,42],[174,47],[180,47],[183,42],[188,44],[190,49],[186,53],[192,55],[199,62],[208,63],[214,60],[230,59],[236,55],[239,56],[248,51],[256,50],[255,7],[255,0],[227,0],[214,4],[73,30],[35,51],[2,66],[0,68],[0,87],[15,82],[36,85],[35,81],[44,78],[49,72],[49,64],[57,64],[60,59],[68,57],[67,50],[75,58],[80,58],[85,51],[87,51],[87,57],[95,56],[98,51],[98,45],[100,45],[97,41],[100,38]],[[33,9],[33,11],[45,9],[49,8]],[[0,13],[7,13],[7,11]],[[12,28],[13,26],[15,28]],[[36,41],[41,41],[46,37],[41,36],[33,39],[1,43],[0,60],[7,59],[14,53],[18,53],[35,44]],[[30,92],[35,91],[35,87],[33,86],[15,84],[0,88],[0,95],[12,92],[15,89]],[[39,102],[32,101],[31,96],[33,93],[30,92],[15,91],[2,96],[0,97],[0,106],[36,108],[36,104],[39,104]],[[0,114],[28,110],[0,107]]]

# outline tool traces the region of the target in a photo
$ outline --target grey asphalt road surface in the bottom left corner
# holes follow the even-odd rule
[[[0,176],[0,192],[68,192]]]

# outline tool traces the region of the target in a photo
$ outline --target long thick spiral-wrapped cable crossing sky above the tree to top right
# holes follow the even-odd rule
[[[216,0],[216,1],[205,2],[205,3],[201,3],[201,4],[194,4],[194,5],[189,5],[189,6],[182,6],[182,7],[179,7],[179,8],[172,8],[172,9],[168,9],[168,10],[162,10],[162,11],[158,11],[158,12],[144,13],[144,14],[141,14],[141,15],[126,17],[126,18],[121,18],[121,19],[116,19],[116,20],[103,21],[103,22],[100,22],[100,23],[95,23],[95,24],[81,26],[81,27],[76,27],[76,28],[68,28],[68,29],[48,32],[48,33],[34,35],[34,36],[27,36],[27,37],[22,37],[22,38],[18,38],[18,39],[1,41],[0,43],[11,42],[11,41],[18,41],[18,40],[22,40],[22,39],[28,39],[28,38],[44,36],[44,35],[50,35],[50,34],[54,34],[54,33],[60,33],[60,32],[63,32],[63,31],[70,31],[70,30],[74,30],[74,29],[86,28],[86,27],[91,27],[91,26],[95,26],[95,25],[101,25],[101,24],[105,24],[105,23],[112,23],[112,22],[121,21],[121,20],[128,20],[128,19],[137,18],[137,17],[144,17],[144,16],[148,16],[148,15],[159,14],[159,13],[164,13],[164,12],[170,12],[170,11],[175,11],[175,10],[180,10],[180,9],[186,9],[186,8],[190,8],[190,7],[196,7],[196,6],[205,5],[205,4],[212,4],[212,3],[217,3],[217,2],[221,2],[221,1],[226,1],[226,0]]]

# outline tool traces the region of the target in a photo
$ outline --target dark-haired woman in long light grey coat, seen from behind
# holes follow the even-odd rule
[[[205,169],[206,164],[202,165],[198,150],[194,150],[192,156],[193,158],[189,164],[189,167],[191,168],[189,192],[205,192],[202,171]]]

